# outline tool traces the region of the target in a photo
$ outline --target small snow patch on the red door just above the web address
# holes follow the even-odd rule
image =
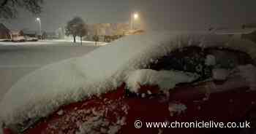
[[[181,114],[187,110],[187,106],[181,103],[169,103],[168,110],[170,111],[170,115],[173,114]]]

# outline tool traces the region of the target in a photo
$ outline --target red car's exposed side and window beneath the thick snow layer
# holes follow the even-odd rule
[[[136,81],[135,76],[132,80],[136,84],[123,82],[101,95],[67,103],[47,117],[28,119],[16,125],[4,124],[4,134],[255,133],[252,128],[255,128],[256,119],[256,70],[255,59],[249,52],[225,47],[224,44],[218,47],[189,45],[151,60],[140,70],[163,72],[167,81],[159,83],[162,75],[149,78],[151,73],[146,74],[147,82],[145,79]],[[197,74],[197,77],[162,90],[166,84],[170,87],[169,77],[165,76],[167,71]],[[172,79],[183,77],[173,75]],[[131,90],[135,88],[132,86],[137,88]],[[156,122],[162,124],[157,125]],[[166,126],[163,125],[165,122]],[[180,124],[174,125],[173,122]],[[184,122],[182,128],[181,122]],[[224,128],[186,128],[193,127],[185,125],[186,122],[192,125],[195,122],[209,122],[211,125],[223,122]]]

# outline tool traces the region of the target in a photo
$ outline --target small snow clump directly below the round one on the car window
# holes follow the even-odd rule
[[[225,80],[229,74],[230,71],[225,68],[214,68],[212,70],[212,77],[216,80]]]

